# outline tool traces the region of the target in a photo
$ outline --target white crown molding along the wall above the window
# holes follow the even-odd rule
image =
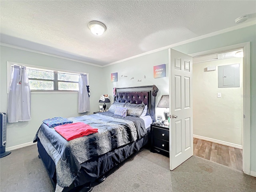
[[[20,50],[24,50],[24,51],[29,51],[29,52],[33,52],[33,53],[38,53],[38,54],[42,54],[42,55],[57,57],[57,58],[60,58],[60,59],[66,59],[66,60],[70,60],[70,61],[75,61],[75,62],[79,62],[79,63],[84,63],[84,64],[96,66],[96,67],[103,67],[103,66],[101,66],[101,65],[94,64],[94,63],[90,63],[90,62],[85,62],[85,61],[81,61],[81,60],[76,60],[76,59],[72,59],[72,58],[68,58],[68,57],[63,57],[63,56],[59,56],[59,55],[55,55],[55,54],[51,54],[51,53],[46,53],[46,52],[42,52],[42,51],[37,51],[37,50],[33,50],[33,49],[28,49],[28,48],[24,48],[24,47],[20,47],[20,46],[16,46],[16,45],[11,45],[11,44],[7,44],[7,43],[2,43],[2,42],[1,42],[0,45],[1,45],[1,46],[5,46],[5,47],[14,48],[14,49],[20,49]]]

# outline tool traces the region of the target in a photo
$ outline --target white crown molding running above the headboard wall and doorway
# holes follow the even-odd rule
[[[168,48],[172,48],[172,47],[176,47],[176,46],[179,46],[179,45],[194,42],[194,41],[197,41],[197,40],[200,40],[200,39],[204,39],[204,38],[216,36],[216,35],[219,35],[219,34],[222,34],[222,33],[230,32],[230,31],[233,31],[233,30],[245,28],[245,27],[252,26],[252,25],[255,25],[255,24],[256,24],[256,20],[252,20],[250,22],[242,23],[240,25],[236,25],[236,26],[233,26],[233,27],[230,27],[230,28],[222,29],[222,30],[219,30],[219,31],[216,31],[216,32],[208,33],[208,34],[201,35],[201,36],[198,36],[198,37],[195,37],[195,38],[191,38],[191,39],[184,40],[184,41],[181,41],[181,42],[178,42],[178,43],[174,43],[174,44],[171,44],[171,45],[168,45],[168,46],[165,46],[165,47],[161,47],[161,48],[154,49],[154,50],[151,50],[151,51],[148,51],[148,52],[144,52],[142,54],[138,54],[138,55],[135,55],[135,56],[132,56],[132,57],[128,57],[128,58],[125,58],[125,59],[122,59],[122,60],[118,60],[118,61],[106,64],[103,67],[110,66],[110,65],[113,65],[113,64],[117,64],[117,63],[120,63],[120,62],[124,62],[124,61],[130,60],[130,59],[134,59],[134,58],[137,58],[137,57],[140,57],[140,56],[147,55],[147,54],[152,54],[152,53],[162,51],[162,50],[165,50],[165,49],[168,49]]]

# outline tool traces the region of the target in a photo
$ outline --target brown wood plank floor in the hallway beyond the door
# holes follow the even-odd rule
[[[242,150],[194,138],[194,155],[222,165],[243,170]]]

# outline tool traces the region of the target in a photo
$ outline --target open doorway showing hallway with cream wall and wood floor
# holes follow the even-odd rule
[[[243,50],[193,59],[194,155],[242,171]]]

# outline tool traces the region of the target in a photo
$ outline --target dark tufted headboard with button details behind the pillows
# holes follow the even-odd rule
[[[153,85],[139,86],[139,87],[127,87],[116,88],[116,96],[114,101],[116,102],[129,102],[134,104],[142,104],[148,106],[148,114],[155,122],[155,103],[156,97],[152,96]]]

